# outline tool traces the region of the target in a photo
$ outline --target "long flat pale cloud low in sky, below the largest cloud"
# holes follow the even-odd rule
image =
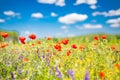
[[[103,26],[101,24],[83,24],[82,27],[76,26],[77,29],[100,29]]]

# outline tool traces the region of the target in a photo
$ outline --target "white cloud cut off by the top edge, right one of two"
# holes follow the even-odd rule
[[[88,4],[90,5],[91,9],[96,9],[97,6],[95,5],[97,3],[97,0],[76,0],[76,3],[74,5],[80,5],[80,4]]]

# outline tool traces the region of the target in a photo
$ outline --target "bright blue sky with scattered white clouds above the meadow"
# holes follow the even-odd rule
[[[0,29],[38,37],[120,34],[120,0],[0,0]]]

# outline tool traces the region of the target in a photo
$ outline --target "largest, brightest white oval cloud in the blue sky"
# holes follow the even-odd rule
[[[62,17],[59,17],[58,21],[64,24],[74,24],[76,22],[84,21],[88,18],[86,14],[71,13]]]

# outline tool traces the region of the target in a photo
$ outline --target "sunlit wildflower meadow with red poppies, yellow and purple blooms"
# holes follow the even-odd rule
[[[92,35],[5,41],[1,33],[0,80],[119,80],[120,38]]]

